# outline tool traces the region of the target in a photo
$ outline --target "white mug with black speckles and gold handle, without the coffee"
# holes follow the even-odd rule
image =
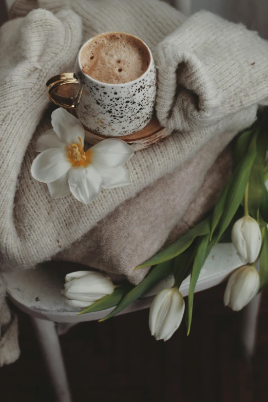
[[[74,73],[57,75],[47,82],[49,98],[57,105],[76,109],[83,125],[95,133],[116,137],[130,135],[144,128],[154,112],[157,86],[154,59],[148,46],[135,37],[148,49],[146,71],[138,79],[124,84],[102,83],[87,75],[81,65],[82,50],[95,38],[81,47]],[[66,84],[72,84],[71,97],[60,94],[59,87]]]

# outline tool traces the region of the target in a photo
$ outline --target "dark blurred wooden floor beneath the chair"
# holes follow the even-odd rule
[[[167,342],[148,330],[148,311],[81,323],[61,337],[73,402],[267,402],[268,292],[252,362],[238,346],[242,313],[223,307],[224,285],[195,298],[192,331]],[[52,402],[28,317],[20,313],[21,358],[0,369],[3,402]]]

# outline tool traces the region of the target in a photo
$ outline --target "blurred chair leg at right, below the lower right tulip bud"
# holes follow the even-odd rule
[[[259,293],[247,304],[243,312],[241,340],[244,354],[247,358],[251,358],[255,351],[260,301],[261,294]]]

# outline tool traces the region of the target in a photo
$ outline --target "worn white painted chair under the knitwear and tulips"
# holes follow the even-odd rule
[[[241,261],[233,244],[217,244],[201,270],[196,292],[226,280],[228,275],[240,265]],[[64,277],[69,272],[79,270],[81,266],[75,266],[72,263],[51,262],[35,270],[13,272],[5,277],[10,300],[31,317],[59,402],[71,402],[59,335],[64,334],[76,323],[98,320],[112,310],[77,315],[76,310],[68,307],[61,294]],[[162,289],[172,285],[172,282],[172,277],[167,278],[162,283]],[[189,277],[183,281],[180,288],[183,296],[187,296],[188,289]],[[148,308],[154,294],[159,290],[159,286],[152,289],[146,297],[132,303],[120,314]],[[241,342],[247,356],[251,356],[254,351],[259,301],[260,297],[257,296],[245,309]]]

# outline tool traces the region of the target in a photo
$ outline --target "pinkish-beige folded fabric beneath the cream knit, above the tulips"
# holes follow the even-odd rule
[[[171,231],[167,241],[187,232],[216,202],[232,169],[231,149],[213,162],[232,137],[210,140],[194,158],[120,205],[53,259],[80,262],[139,283],[148,269],[135,267],[156,254]]]

